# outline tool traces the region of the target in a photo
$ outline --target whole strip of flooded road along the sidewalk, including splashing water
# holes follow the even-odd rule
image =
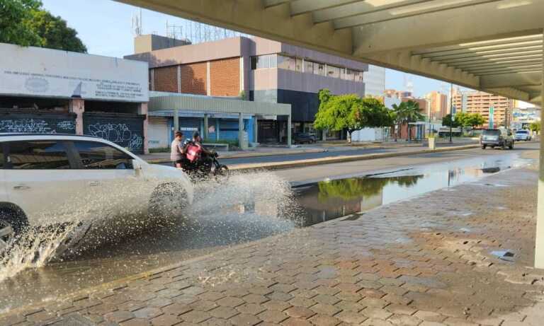
[[[0,312],[47,301],[293,228],[368,211],[526,164],[502,154],[404,167],[290,187],[273,173],[234,175],[196,187],[186,216],[126,237],[94,231],[84,248],[63,261],[26,269],[0,283]],[[98,240],[97,240],[98,239]]]

